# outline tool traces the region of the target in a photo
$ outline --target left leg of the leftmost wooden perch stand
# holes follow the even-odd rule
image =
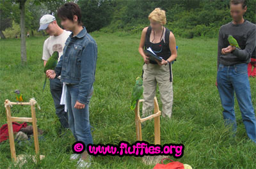
[[[12,119],[11,119],[12,115],[11,115],[11,108],[9,105],[6,106],[6,117],[7,117],[7,124],[8,124],[11,155],[12,155],[12,159],[14,161],[16,161],[17,158],[16,158],[15,143],[14,143],[13,128],[12,128]]]

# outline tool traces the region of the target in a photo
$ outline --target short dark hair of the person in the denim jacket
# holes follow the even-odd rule
[[[76,3],[65,3],[61,6],[58,11],[57,15],[59,18],[65,20],[73,20],[74,15],[77,15],[77,22],[79,26],[82,26],[83,23],[81,22],[81,9]]]

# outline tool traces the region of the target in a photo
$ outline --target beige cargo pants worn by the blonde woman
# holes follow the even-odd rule
[[[172,67],[171,67],[172,68]],[[162,101],[163,117],[172,116],[173,89],[170,82],[169,64],[159,66],[158,64],[144,64],[143,66],[143,107],[142,117],[152,114],[154,108],[154,96],[156,95],[157,84]]]

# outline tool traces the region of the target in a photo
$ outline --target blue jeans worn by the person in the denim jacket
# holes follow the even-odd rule
[[[89,103],[92,98],[93,87],[90,91],[90,94],[87,98],[86,105],[83,109],[74,108],[77,96],[79,94],[79,85],[67,85],[67,108],[68,108],[68,124],[71,129],[76,141],[88,143],[93,143],[92,133],[90,129],[89,121]],[[86,150],[86,149],[85,149]]]

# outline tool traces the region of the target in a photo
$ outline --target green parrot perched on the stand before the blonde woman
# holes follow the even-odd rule
[[[137,101],[140,99],[143,94],[143,81],[141,77],[136,78],[136,84],[133,87],[132,91],[132,102],[131,102],[131,110],[134,110],[136,107]]]

